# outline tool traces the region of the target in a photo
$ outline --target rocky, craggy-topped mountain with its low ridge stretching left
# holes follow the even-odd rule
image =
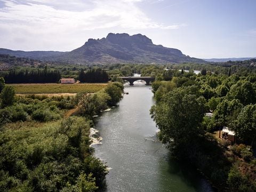
[[[110,33],[106,38],[88,39],[83,46],[70,52],[0,49],[0,54],[77,64],[205,62],[202,59],[190,58],[178,49],[155,45],[151,39],[141,34],[130,36]]]

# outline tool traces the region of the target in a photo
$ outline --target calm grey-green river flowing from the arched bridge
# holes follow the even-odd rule
[[[174,161],[157,140],[149,114],[154,105],[150,89],[142,82],[125,86],[129,94],[96,120],[103,140],[93,145],[95,155],[111,168],[106,191],[213,191],[195,170]]]

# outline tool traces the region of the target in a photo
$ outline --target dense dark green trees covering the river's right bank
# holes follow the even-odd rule
[[[202,75],[204,74],[204,75]],[[256,75],[169,70],[152,85],[151,115],[173,155],[199,169],[220,191],[256,190]],[[206,112],[213,111],[213,117]],[[214,137],[228,126],[237,144]],[[218,134],[219,136],[219,134]]]

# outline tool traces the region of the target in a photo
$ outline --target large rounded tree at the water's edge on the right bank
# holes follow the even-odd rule
[[[189,88],[165,94],[164,101],[153,106],[150,112],[163,143],[186,143],[202,131],[199,125],[204,117],[204,100],[191,94]]]

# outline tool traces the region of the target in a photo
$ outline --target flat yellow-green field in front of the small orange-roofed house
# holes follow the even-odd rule
[[[78,83],[78,84],[9,84],[16,93],[78,93],[87,91],[95,93],[107,86],[107,84]]]

